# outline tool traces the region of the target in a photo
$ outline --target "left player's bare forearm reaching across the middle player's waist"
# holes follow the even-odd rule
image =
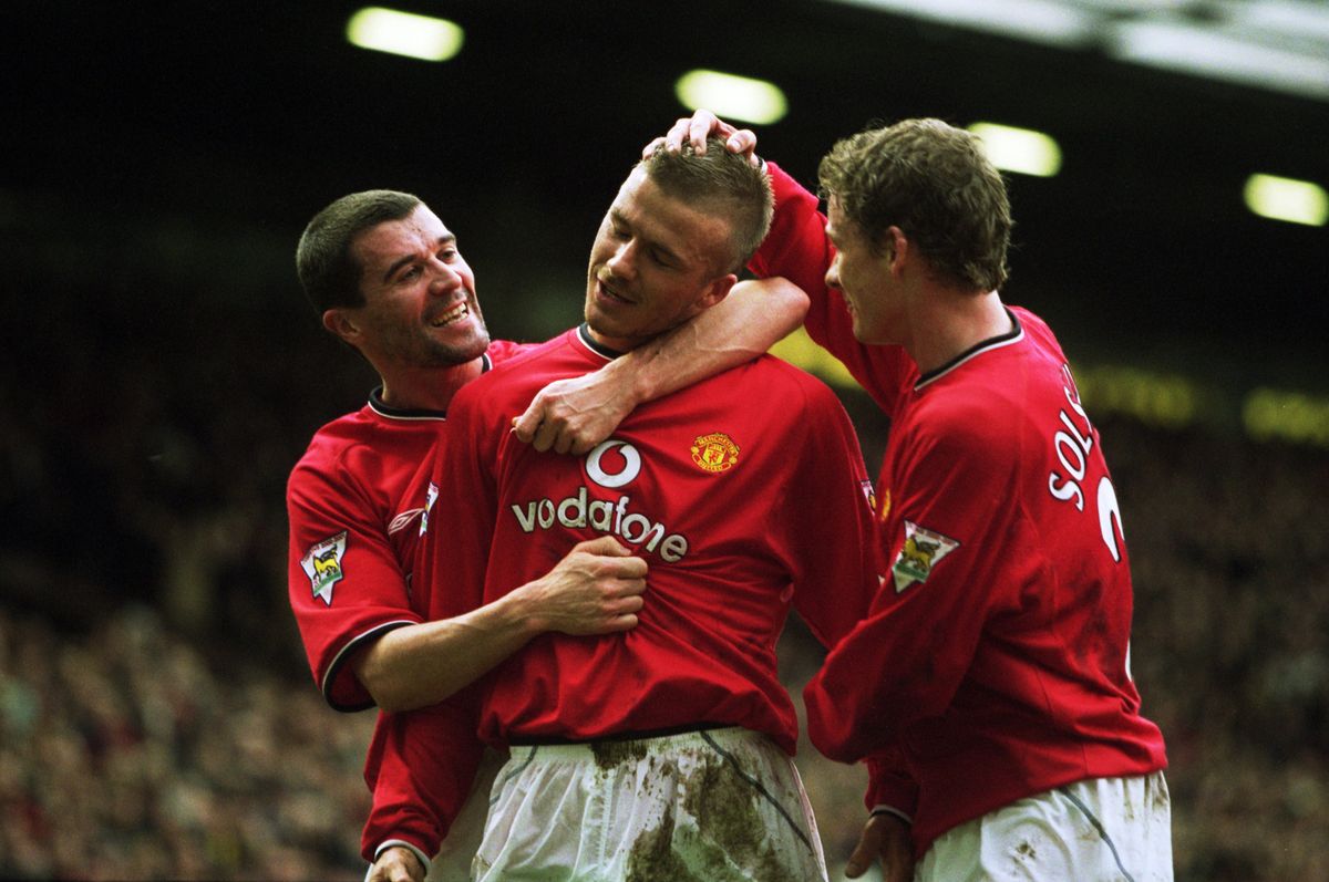
[[[352,664],[375,703],[388,712],[436,704],[488,673],[538,632],[528,592],[439,622],[396,628]]]

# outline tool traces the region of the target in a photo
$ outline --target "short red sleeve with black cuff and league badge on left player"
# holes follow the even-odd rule
[[[376,507],[342,458],[302,461],[287,484],[291,611],[314,681],[338,711],[373,705],[346,664],[385,631],[421,622]],[[334,602],[336,599],[336,602]]]

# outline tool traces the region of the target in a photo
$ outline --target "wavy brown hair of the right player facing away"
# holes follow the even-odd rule
[[[969,132],[941,120],[860,132],[823,157],[817,178],[874,248],[896,226],[945,279],[982,291],[1005,284],[1006,182]]]

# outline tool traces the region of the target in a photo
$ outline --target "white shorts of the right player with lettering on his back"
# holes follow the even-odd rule
[[[914,882],[1171,882],[1172,806],[1162,772],[1090,778],[1018,800],[938,837]]]

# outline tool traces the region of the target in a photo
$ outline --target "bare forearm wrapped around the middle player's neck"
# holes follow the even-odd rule
[[[719,304],[601,371],[653,401],[751,361],[803,324],[808,298],[784,279],[742,282]]]

